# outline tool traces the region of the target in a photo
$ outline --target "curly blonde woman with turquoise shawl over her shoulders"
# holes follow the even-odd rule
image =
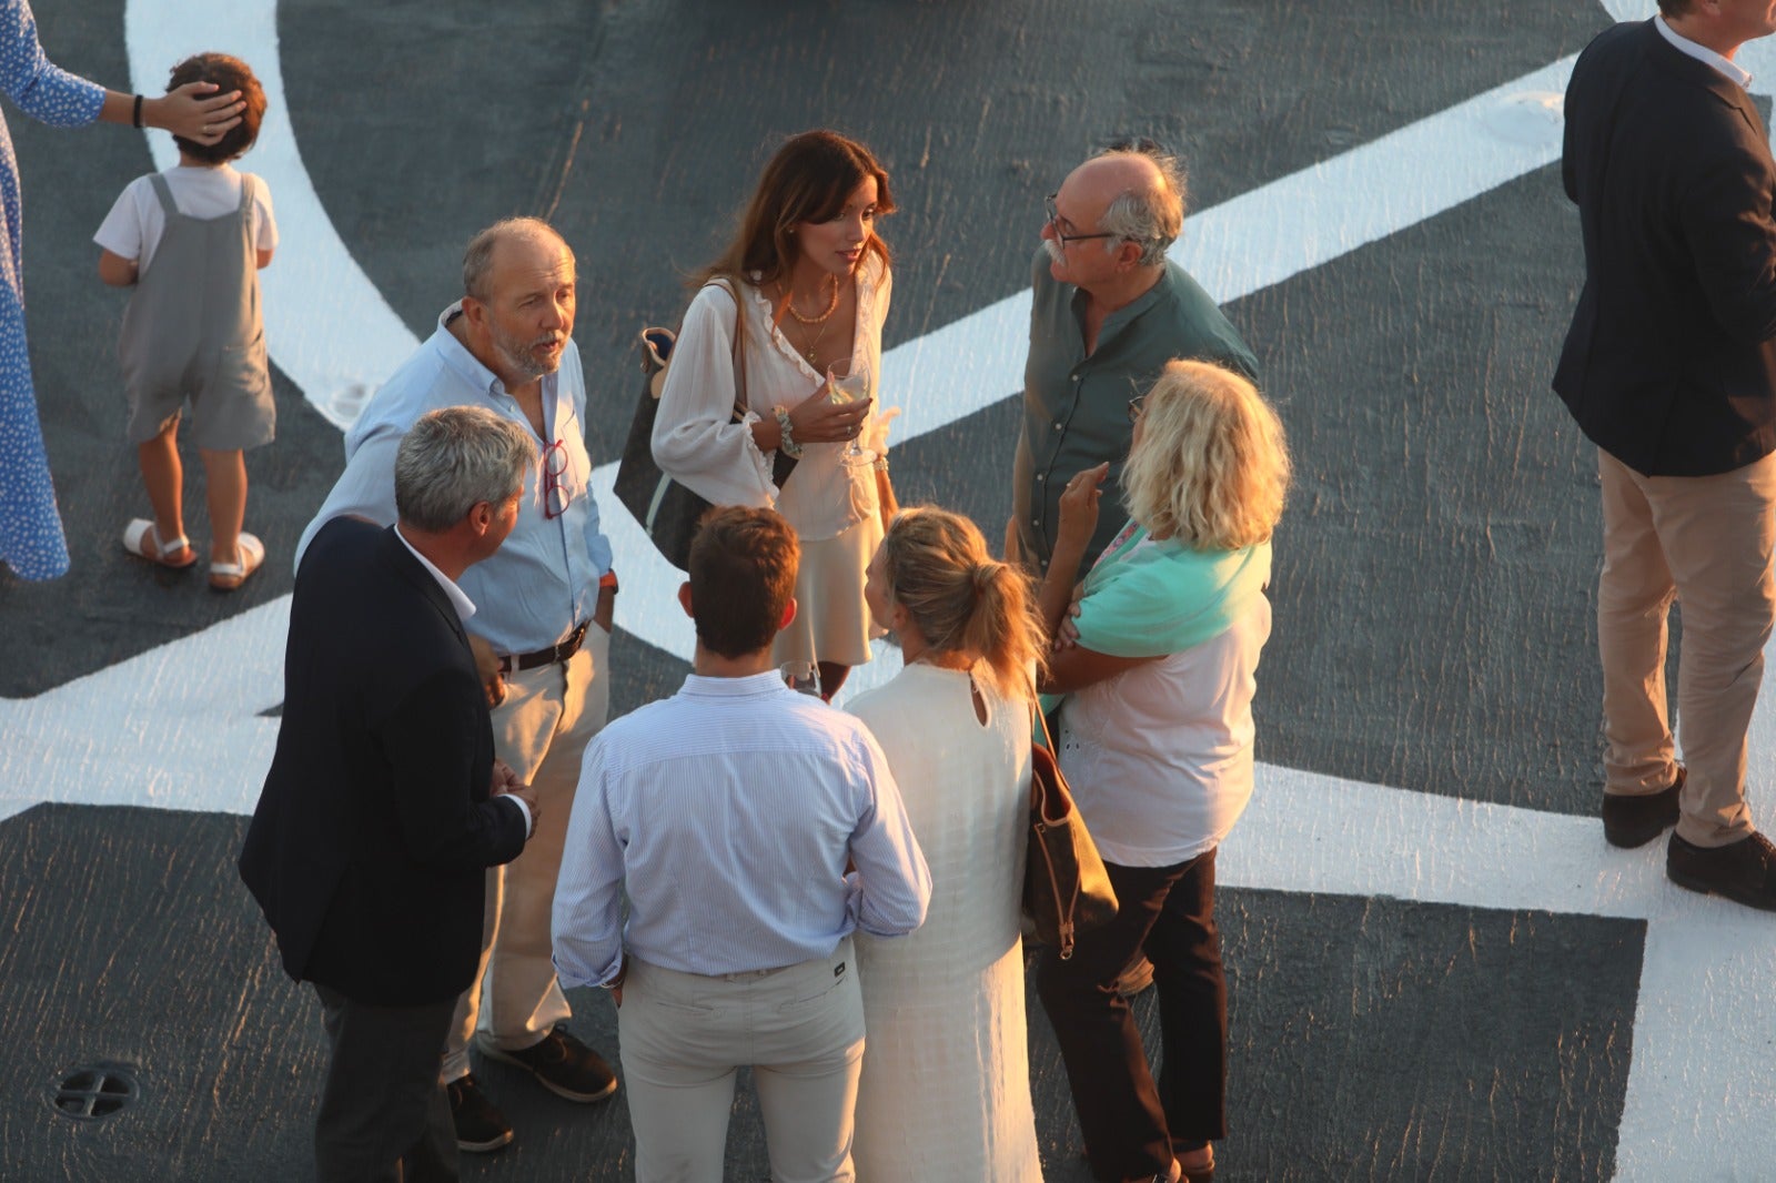
[[[1252,695],[1289,457],[1252,384],[1208,362],[1170,362],[1130,416],[1128,528],[1074,588],[1108,469],[1080,472],[1041,590],[1050,632],[1080,593],[1076,643],[1050,655],[1043,689],[1067,695],[1060,767],[1121,908],[1069,961],[1044,956],[1037,993],[1092,1174],[1206,1183],[1227,1133],[1215,849],[1252,796]],[[1160,998],[1158,1084],[1114,989],[1142,947]]]

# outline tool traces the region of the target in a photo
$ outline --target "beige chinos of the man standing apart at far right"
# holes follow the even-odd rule
[[[1666,618],[1684,604],[1677,712],[1689,780],[1677,831],[1719,847],[1753,831],[1746,732],[1776,620],[1776,455],[1716,476],[1643,476],[1598,449],[1604,574],[1604,792],[1650,794],[1677,776],[1666,712]]]

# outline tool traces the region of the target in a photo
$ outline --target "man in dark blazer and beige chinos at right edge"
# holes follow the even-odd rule
[[[1771,0],[1659,0],[1579,55],[1563,178],[1586,279],[1554,373],[1604,494],[1604,837],[1675,822],[1671,881],[1765,909],[1776,847],[1746,805],[1746,732],[1776,622],[1776,163],[1733,57],[1771,32]]]

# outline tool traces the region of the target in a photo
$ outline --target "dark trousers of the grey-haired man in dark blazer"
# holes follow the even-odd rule
[[[373,1007],[314,986],[332,1057],[314,1119],[321,1183],[456,1183],[456,1128],[439,1084],[455,998]]]

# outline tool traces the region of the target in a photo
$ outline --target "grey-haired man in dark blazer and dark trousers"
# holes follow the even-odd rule
[[[329,522],[297,576],[277,753],[240,874],[284,970],[321,998],[321,1179],[456,1178],[444,1039],[481,950],[485,869],[536,817],[494,760],[456,579],[511,531],[535,464],[519,425],[432,412],[400,446],[400,522]]]

